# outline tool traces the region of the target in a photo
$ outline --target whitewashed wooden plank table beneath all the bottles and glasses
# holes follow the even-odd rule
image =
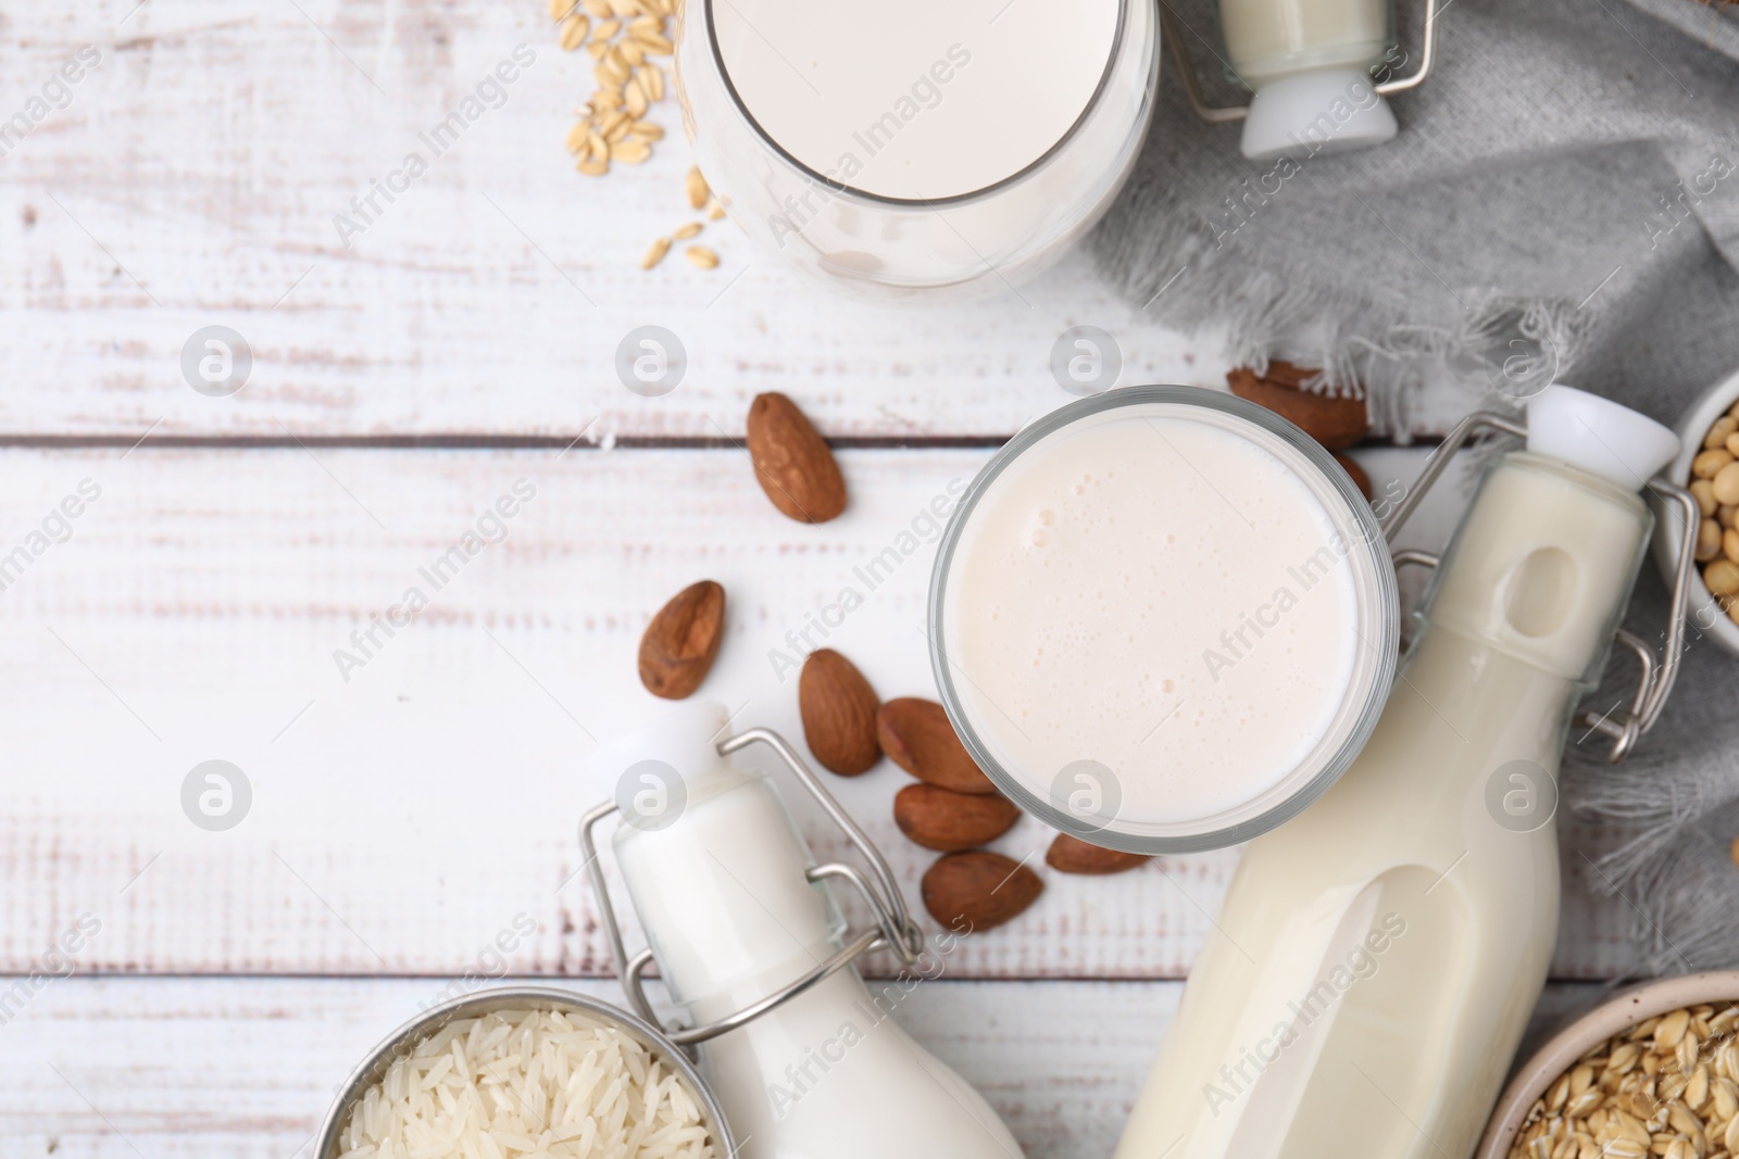
[[[1064,328],[1115,334],[1123,384],[1224,381],[1214,335],[1144,320],[1080,259],[1019,295],[876,311],[718,222],[720,269],[642,273],[689,215],[685,148],[572,172],[590,61],[556,50],[541,0],[35,5],[0,16],[0,116],[85,43],[101,64],[0,158],[0,556],[26,547],[0,570],[7,1156],[289,1159],[360,1055],[468,971],[614,994],[574,829],[607,794],[593,738],[661,707],[635,679],[649,615],[720,580],[703,695],[798,738],[769,650],[1068,401],[1047,370]],[[346,248],[334,215],[516,43],[536,63],[506,104]],[[689,353],[663,398],[612,368],[643,323]],[[181,374],[207,325],[254,354],[230,398]],[[760,497],[734,445],[760,391],[843,448],[843,518],[800,527]],[[1419,466],[1363,459],[1379,485]],[[54,520],[85,480],[101,493]],[[346,679],[334,650],[516,480],[536,499],[504,540]],[[1435,504],[1419,542],[1454,513]],[[883,697],[934,695],[929,556],[828,639]],[[207,759],[252,787],[230,831],[183,811]],[[883,763],[836,789],[915,897],[930,855],[890,822],[901,784]],[[1024,820],[998,848],[1047,841]],[[1235,860],[1047,872],[901,1018],[1029,1156],[1104,1154]],[[1549,1010],[1633,961],[1626,907],[1567,888]],[[73,977],[31,980],[82,917],[99,928]],[[496,961],[516,921],[536,933]]]

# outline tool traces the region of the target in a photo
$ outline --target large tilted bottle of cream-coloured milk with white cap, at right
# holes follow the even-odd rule
[[[1478,1142],[1556,937],[1572,711],[1654,525],[1638,490],[1676,448],[1614,403],[1546,396],[1530,450],[1483,476],[1370,742],[1250,843],[1120,1159],[1466,1159]]]

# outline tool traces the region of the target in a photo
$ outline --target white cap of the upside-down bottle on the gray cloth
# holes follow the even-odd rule
[[[1243,155],[1252,162],[1282,155],[1303,162],[1367,149],[1393,136],[1395,113],[1370,76],[1356,68],[1330,68],[1257,89],[1243,120]]]

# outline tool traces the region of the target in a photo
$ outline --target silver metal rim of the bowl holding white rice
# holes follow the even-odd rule
[[[400,1055],[409,1053],[424,1037],[435,1034],[456,1018],[476,1018],[496,1010],[520,1010],[525,1006],[579,1011],[596,1018],[598,1022],[607,1022],[621,1029],[628,1034],[628,1037],[652,1051],[652,1055],[656,1055],[666,1067],[680,1074],[683,1083],[687,1083],[689,1093],[701,1109],[701,1121],[713,1136],[713,1154],[737,1154],[736,1142],[730,1138],[730,1126],[725,1123],[725,1112],[718,1107],[718,1100],[713,1098],[713,1091],[701,1079],[701,1072],[696,1070],[692,1062],[689,1062],[689,1056],[682,1053],[682,1048],[664,1037],[663,1030],[635,1018],[617,1006],[610,1006],[609,1003],[595,997],[586,997],[584,994],[556,990],[555,987],[546,985],[508,985],[480,990],[466,997],[456,997],[450,1003],[442,1003],[440,1006],[431,1006],[388,1034],[386,1039],[369,1051],[369,1056],[363,1058],[344,1081],[343,1089],[339,1089],[337,1098],[332,1102],[332,1109],[327,1110],[327,1117],[320,1124],[320,1135],[316,1136],[318,1143],[315,1145],[313,1157],[337,1159],[339,1131],[350,1117],[351,1105],[355,1105],[355,1102],[362,1098],[370,1086],[384,1077],[386,1069],[393,1065]]]

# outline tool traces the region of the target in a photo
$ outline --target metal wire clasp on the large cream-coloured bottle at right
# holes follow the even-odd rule
[[[1389,542],[1395,540],[1395,533],[1402,528],[1409,516],[1419,509],[1419,502],[1424,499],[1431,485],[1442,478],[1443,471],[1449,467],[1450,459],[1461,450],[1476,431],[1492,429],[1502,431],[1506,434],[1516,434],[1527,438],[1527,427],[1520,422],[1506,419],[1504,415],[1478,410],[1466,419],[1462,419],[1443,445],[1431,452],[1431,457],[1424,464],[1424,471],[1419,473],[1419,480],[1414,483],[1412,490],[1405,499],[1383,518],[1383,537]],[[1654,648],[1638,636],[1624,631],[1622,627],[1614,632],[1617,643],[1635,653],[1636,662],[1642,666],[1642,676],[1636,681],[1636,695],[1631,699],[1631,705],[1626,711],[1614,709],[1605,714],[1582,712],[1581,721],[1588,725],[1593,732],[1598,732],[1612,738],[1612,747],[1607,751],[1607,761],[1617,765],[1631,749],[1636,747],[1636,740],[1642,738],[1645,732],[1654,728],[1654,723],[1661,718],[1661,709],[1666,707],[1666,699],[1673,693],[1673,685],[1678,681],[1678,662],[1685,655],[1685,610],[1690,606],[1690,577],[1696,575],[1696,551],[1697,551],[1697,525],[1701,523],[1702,513],[1697,507],[1697,499],[1683,487],[1669,483],[1662,478],[1649,480],[1649,490],[1659,495],[1666,504],[1678,504],[1678,509],[1685,516],[1685,530],[1680,535],[1678,549],[1678,566],[1673,572],[1673,610],[1669,612],[1671,622],[1666,627],[1666,652],[1664,655],[1656,655]],[[1391,553],[1395,566],[1417,565],[1435,568],[1442,563],[1442,556],[1429,551],[1395,551]]]

